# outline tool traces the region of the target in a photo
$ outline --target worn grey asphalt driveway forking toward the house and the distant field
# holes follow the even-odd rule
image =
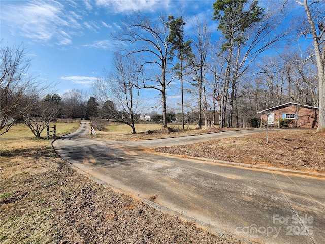
[[[89,175],[193,219],[211,232],[231,232],[262,243],[324,243],[325,179],[149,150],[259,131],[121,142],[77,136],[89,132],[89,126],[82,124],[53,146]]]

